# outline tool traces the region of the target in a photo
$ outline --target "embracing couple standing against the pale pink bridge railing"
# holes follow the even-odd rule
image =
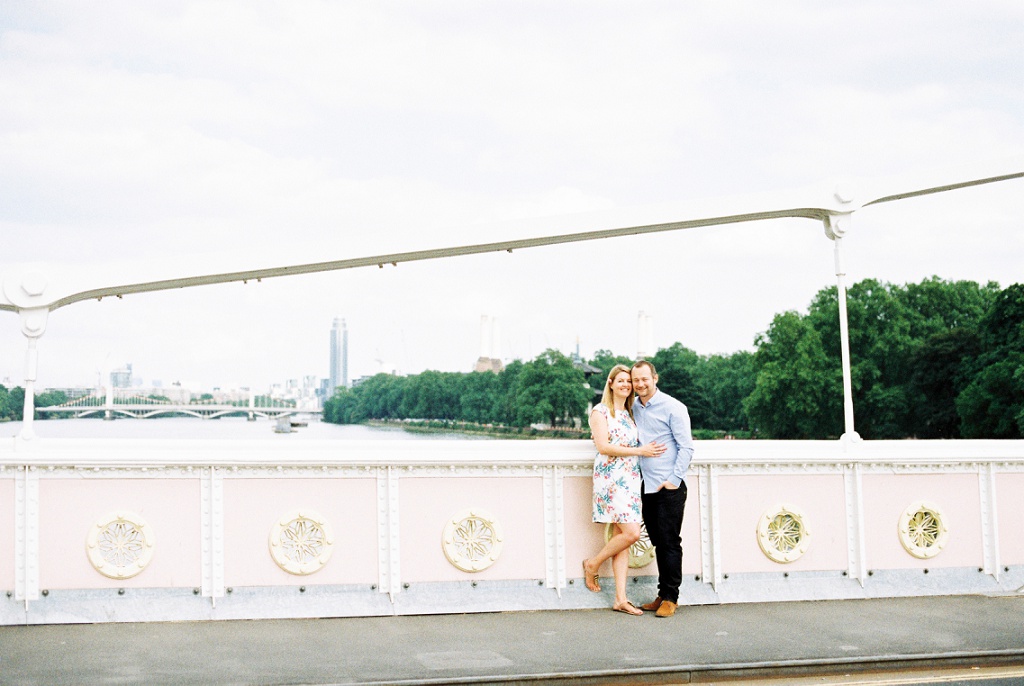
[[[642,359],[632,369],[616,365],[600,404],[591,411],[590,431],[598,453],[594,521],[611,522],[615,528],[604,548],[583,561],[584,582],[591,591],[600,591],[598,570],[610,558],[615,580],[612,609],[672,616],[683,581],[681,529],[686,470],[693,457],[686,405],[658,391],[657,372],[649,361]],[[657,597],[638,608],[626,597],[626,576],[629,549],[640,540],[641,522],[654,546]]]

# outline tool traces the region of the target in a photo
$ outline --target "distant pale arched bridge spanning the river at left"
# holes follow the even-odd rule
[[[72,414],[75,417],[101,414],[104,419],[114,419],[117,416],[151,419],[166,415],[189,415],[200,419],[217,419],[230,415],[243,415],[249,419],[257,417],[278,419],[293,415],[319,415],[323,411],[299,406],[296,400],[264,396],[251,395],[248,400],[191,399],[188,402],[175,402],[165,397],[142,395],[130,389],[115,388],[105,391],[100,389],[60,404],[37,408],[36,412],[49,415]]]

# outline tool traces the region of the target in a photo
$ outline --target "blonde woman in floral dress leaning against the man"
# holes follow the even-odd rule
[[[594,557],[583,561],[587,588],[597,592],[598,569],[611,558],[615,576],[615,602],[611,609],[640,615],[626,597],[630,546],[640,540],[640,458],[656,458],[665,453],[658,443],[640,445],[633,423],[633,382],[630,368],[615,365],[608,373],[601,403],[590,413],[590,432],[597,446],[594,459],[594,521],[612,522],[615,534]]]

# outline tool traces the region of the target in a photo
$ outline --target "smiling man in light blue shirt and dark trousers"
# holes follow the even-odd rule
[[[683,583],[683,508],[686,507],[686,470],[693,458],[693,436],[686,405],[657,390],[654,366],[641,359],[631,370],[633,417],[640,442],[665,445],[657,460],[641,460],[643,523],[657,560],[657,597],[642,609],[671,617]]]

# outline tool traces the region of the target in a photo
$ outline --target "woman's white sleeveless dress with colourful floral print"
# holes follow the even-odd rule
[[[615,413],[607,405],[598,404],[591,412],[599,412],[608,422],[608,442],[612,445],[636,447],[640,445],[637,425],[628,412]],[[640,514],[640,458],[612,458],[597,454],[594,459],[594,521],[641,522]]]

